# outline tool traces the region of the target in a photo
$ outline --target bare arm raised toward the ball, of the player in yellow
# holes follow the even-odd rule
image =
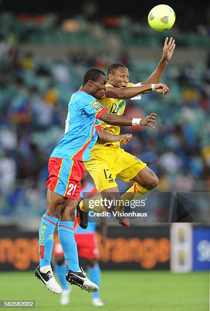
[[[163,73],[168,65],[168,61],[171,59],[173,51],[176,47],[175,40],[171,37],[168,41],[168,37],[165,39],[165,43],[163,46],[163,55],[158,64],[155,71],[151,74],[151,76],[147,79],[146,82],[141,82],[142,85],[148,85],[152,83],[159,83],[161,80]],[[148,93],[148,91],[146,91]]]

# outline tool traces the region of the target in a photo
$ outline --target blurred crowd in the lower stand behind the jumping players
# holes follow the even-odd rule
[[[1,214],[10,215],[14,206],[22,213],[29,207],[42,213],[37,204],[44,209],[48,158],[63,135],[71,94],[87,68],[106,72],[111,61],[127,65],[134,83],[146,81],[157,65],[137,63],[124,53],[119,59],[87,58],[83,52],[69,52],[64,61],[39,59],[31,51],[20,57],[15,45],[1,40]],[[126,149],[158,175],[158,191],[209,191],[210,60],[206,68],[190,62],[168,65],[163,82],[170,88],[166,97],[152,93],[141,101],[127,101],[126,116],[154,111],[158,119],[155,130],[122,129],[133,134]],[[128,188],[120,185],[122,191]]]

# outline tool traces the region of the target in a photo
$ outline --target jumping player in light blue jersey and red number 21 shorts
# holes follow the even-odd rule
[[[151,86],[150,86],[151,87]],[[148,87],[148,89],[150,89]],[[147,87],[143,87],[143,91]],[[81,289],[94,292],[98,286],[91,282],[80,269],[77,244],[74,238],[74,218],[85,168],[83,161],[90,160],[90,150],[99,139],[101,142],[121,141],[123,137],[103,131],[97,119],[118,126],[150,126],[155,122],[155,114],[143,119],[125,118],[111,114],[96,99],[101,99],[106,91],[106,75],[97,68],[89,69],[79,91],[75,92],[68,105],[65,133],[49,159],[49,179],[47,181],[47,210],[42,217],[39,231],[40,264],[35,275],[46,288],[54,293],[62,289],[56,282],[50,265],[53,250],[53,234],[58,223],[58,237],[68,265],[66,279]],[[55,217],[57,205],[62,204],[60,220]]]

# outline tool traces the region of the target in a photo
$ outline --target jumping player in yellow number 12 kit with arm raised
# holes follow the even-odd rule
[[[175,46],[173,38],[170,38],[169,41],[168,38],[165,39],[163,56],[156,70],[146,82],[138,83],[138,86],[128,82],[129,72],[124,65],[111,65],[108,69],[106,94],[99,100],[102,106],[106,107],[110,113],[123,115],[125,100],[141,94],[143,86],[151,85],[150,89],[144,91],[145,93],[156,90],[158,93],[166,94],[168,90],[164,86],[161,88],[160,84],[157,83],[162,78]],[[136,122],[138,122],[137,119]],[[119,135],[120,133],[120,127],[118,126],[108,125],[103,121],[101,121],[101,125],[104,130],[111,134]],[[154,128],[153,126],[151,127]],[[141,197],[153,190],[158,184],[158,177],[155,173],[141,160],[136,159],[136,157],[120,148],[119,142],[107,142],[105,144],[96,142],[90,152],[90,157],[91,161],[85,162],[85,167],[92,176],[96,189],[103,198],[112,200],[113,194],[115,194],[115,198],[119,199],[120,195],[117,195],[119,194],[119,189],[115,181],[116,177],[127,182],[134,181],[132,187],[121,196],[121,199],[124,200]],[[88,206],[83,205],[83,210],[87,211]],[[95,207],[94,210],[102,211],[106,209],[103,206],[99,206]],[[129,226],[128,221],[125,219],[120,219],[119,222],[123,226]]]

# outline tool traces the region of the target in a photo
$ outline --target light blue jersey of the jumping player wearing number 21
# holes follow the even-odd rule
[[[101,128],[97,119],[106,109],[86,92],[75,92],[68,104],[65,133],[51,157],[89,161],[97,140],[96,130]]]

